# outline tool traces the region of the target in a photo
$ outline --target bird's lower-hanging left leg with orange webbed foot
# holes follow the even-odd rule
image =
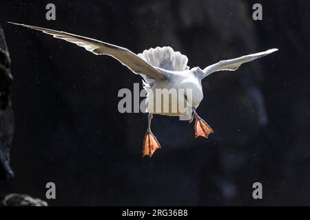
[[[158,143],[158,140],[156,139],[156,137],[153,135],[151,131],[152,118],[153,118],[153,114],[149,113],[147,133],[145,133],[144,140],[143,140],[143,156],[147,155],[149,157],[152,157],[153,153],[158,148],[161,148],[161,144]]]

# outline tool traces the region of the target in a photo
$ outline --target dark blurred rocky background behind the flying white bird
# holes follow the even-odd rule
[[[1,1],[12,60],[14,178],[0,194],[63,205],[310,205],[309,1]],[[147,115],[118,113],[118,90],[141,78],[107,56],[6,23],[64,30],[133,52],[170,45],[205,67],[280,49],[203,81],[198,114],[214,129],[155,115],[163,148],[141,156]],[[251,197],[260,181],[263,199]]]

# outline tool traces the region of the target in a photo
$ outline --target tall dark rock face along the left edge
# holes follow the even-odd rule
[[[0,179],[12,177],[10,146],[14,131],[13,111],[10,102],[10,56],[0,26]]]

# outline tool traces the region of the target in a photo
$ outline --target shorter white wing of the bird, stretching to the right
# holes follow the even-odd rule
[[[220,61],[218,63],[215,63],[214,65],[209,65],[209,67],[206,67],[205,69],[203,69],[203,78],[205,78],[206,76],[209,76],[209,74],[213,72],[217,72],[221,70],[235,71],[236,69],[240,67],[242,63],[254,61],[257,58],[266,56],[276,51],[278,51],[278,49],[270,49],[270,50],[266,50],[265,52],[249,54],[246,56],[241,56],[241,57],[234,58],[234,59],[227,60],[227,61]]]

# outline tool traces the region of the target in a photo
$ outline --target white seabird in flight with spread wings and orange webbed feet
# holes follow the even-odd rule
[[[249,54],[227,61],[220,61],[214,65],[205,67],[205,69],[200,69],[199,67],[189,69],[187,66],[187,56],[180,54],[180,52],[174,52],[172,47],[156,47],[155,49],[151,48],[145,50],[141,54],[134,54],[124,47],[90,39],[85,36],[20,23],[12,24],[39,30],[45,34],[50,34],[57,39],[63,39],[75,43],[96,55],[112,56],[128,67],[134,74],[140,74],[143,77],[145,89],[147,89],[146,102],[147,112],[149,113],[147,132],[143,140],[143,156],[148,155],[149,157],[153,155],[156,149],[161,148],[161,145],[151,131],[151,121],[154,113],[168,116],[187,115],[187,110],[183,111],[182,109],[177,109],[177,111],[172,111],[171,108],[172,104],[178,106],[178,102],[184,102],[185,100],[185,102],[187,102],[187,104],[194,110],[192,117],[189,118],[189,122],[192,122],[194,118],[196,119],[194,126],[196,137],[208,137],[208,135],[214,133],[214,131],[196,113],[196,108],[203,100],[201,80],[206,76],[209,76],[209,74],[217,71],[234,71],[238,69],[242,63],[254,61],[257,58],[266,56],[278,50],[271,49],[265,52]],[[188,102],[189,100],[187,100],[187,94],[185,93],[183,95],[184,97],[177,96],[176,99],[169,98],[169,100],[164,102],[161,97],[156,96],[156,89],[167,89],[168,91],[169,89],[184,89],[185,91],[190,89],[189,91],[192,91],[192,100]],[[152,97],[152,100],[149,94],[153,94],[154,97]],[[162,106],[160,110],[154,110],[154,103],[158,98],[160,98]],[[150,107],[151,105],[153,106],[152,109]],[[165,107],[169,107],[169,111],[163,111]]]

